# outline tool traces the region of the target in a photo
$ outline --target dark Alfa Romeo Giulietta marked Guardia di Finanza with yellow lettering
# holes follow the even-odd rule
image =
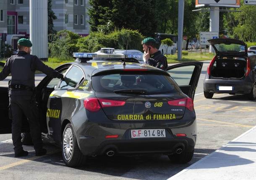
[[[193,96],[202,63],[162,71],[94,61],[90,53],[74,56],[80,58],[56,68],[65,81],[46,76],[37,86],[42,138],[61,147],[66,165],[79,166],[87,156],[131,153],[191,160],[197,136]],[[6,87],[0,87],[0,97],[0,133],[10,133]]]

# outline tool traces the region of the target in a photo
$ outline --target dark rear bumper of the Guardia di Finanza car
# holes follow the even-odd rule
[[[171,123],[170,123],[171,124]],[[177,148],[192,151],[196,145],[196,120],[173,124],[162,123],[145,127],[142,124],[119,124],[119,128],[106,128],[107,124],[87,124],[86,134],[77,134],[78,145],[84,155],[103,155],[109,150],[117,154],[163,153],[172,154]],[[169,126],[169,127],[168,127]],[[176,126],[176,127],[175,127]],[[132,128],[131,128],[132,127]],[[175,128],[174,128],[175,127]],[[162,138],[131,138],[131,129],[165,129],[166,137]],[[176,137],[184,133],[186,137]],[[106,135],[118,134],[118,138],[106,139]]]

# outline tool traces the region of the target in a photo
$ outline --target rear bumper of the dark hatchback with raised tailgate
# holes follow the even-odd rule
[[[232,86],[232,90],[219,90],[218,86]],[[249,94],[253,83],[243,80],[205,79],[204,91],[212,93]]]

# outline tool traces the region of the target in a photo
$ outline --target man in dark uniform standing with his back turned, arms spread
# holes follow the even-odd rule
[[[58,71],[46,66],[37,56],[30,55],[32,43],[28,39],[21,38],[18,41],[18,53],[6,60],[3,71],[0,72],[0,81],[10,73],[9,101],[12,116],[12,139],[15,157],[28,155],[21,144],[21,128],[23,114],[29,121],[30,134],[34,143],[36,156],[45,155],[47,150],[43,148],[41,129],[37,106],[33,101],[35,87],[35,71],[42,71],[52,78],[63,79]]]

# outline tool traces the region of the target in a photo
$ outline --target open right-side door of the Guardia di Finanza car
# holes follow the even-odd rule
[[[166,71],[175,80],[181,91],[194,99],[202,67],[202,62],[180,63],[169,66]]]

